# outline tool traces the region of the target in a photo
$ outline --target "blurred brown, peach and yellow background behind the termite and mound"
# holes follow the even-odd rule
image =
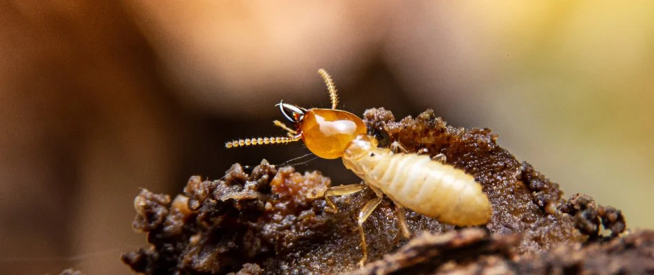
[[[130,274],[140,188],[181,192],[302,144],[279,100],[432,108],[654,228],[654,2],[1,1],[0,273]],[[314,160],[335,183],[339,161]]]

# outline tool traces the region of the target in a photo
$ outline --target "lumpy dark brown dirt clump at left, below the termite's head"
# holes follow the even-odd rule
[[[335,227],[322,198],[330,180],[319,172],[276,170],[265,160],[250,175],[235,164],[222,180],[191,177],[171,202],[142,190],[134,228],[154,247],[123,255],[146,274],[249,272],[278,268],[273,258]],[[255,267],[256,266],[256,267]]]

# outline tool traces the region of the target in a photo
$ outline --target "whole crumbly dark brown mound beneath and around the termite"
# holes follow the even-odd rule
[[[408,210],[414,234],[406,240],[392,202],[385,199],[364,223],[368,265],[359,269],[355,219],[375,194],[333,197],[339,207],[333,212],[323,197],[328,177],[277,169],[264,160],[249,174],[234,164],[223,179],[191,177],[184,193],[172,200],[143,190],[134,203],[134,228],[147,232],[152,246],[123,254],[123,261],[145,274],[492,273],[500,268],[547,273],[555,267],[569,270],[564,261],[585,268],[591,260],[584,255],[614,259],[631,250],[652,251],[651,232],[621,239],[626,223],[620,210],[586,195],[563,199],[558,184],[498,146],[489,129],[448,126],[431,110],[396,122],[390,111],[370,109],[363,119],[380,144],[399,141],[408,151],[443,154],[447,164],[473,175],[492,202],[491,221],[456,228]],[[603,236],[602,227],[611,234]],[[629,237],[638,245],[626,245]],[[557,252],[564,245],[575,249],[578,261]],[[618,268],[654,261],[653,253],[632,254],[640,258],[610,263]]]

